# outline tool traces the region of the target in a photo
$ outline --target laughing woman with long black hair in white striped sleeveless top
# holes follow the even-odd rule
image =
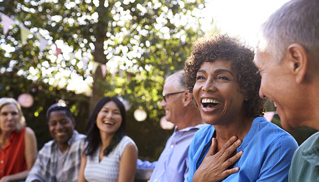
[[[96,105],[86,127],[78,182],[133,182],[138,149],[125,134],[125,108],[116,97]]]

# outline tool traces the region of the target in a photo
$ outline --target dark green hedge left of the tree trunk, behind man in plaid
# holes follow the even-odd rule
[[[51,140],[47,126],[46,111],[59,99],[66,100],[66,104],[73,113],[76,125],[75,129],[81,133],[85,132],[85,121],[89,113],[86,111],[89,104],[89,97],[83,94],[75,94],[66,89],[58,89],[43,82],[33,82],[23,76],[17,76],[14,72],[0,74],[0,96],[12,97],[17,99],[21,92],[31,94],[34,98],[34,104],[29,108],[23,108],[22,112],[26,119],[28,127],[35,132],[38,148],[41,149],[43,144]]]

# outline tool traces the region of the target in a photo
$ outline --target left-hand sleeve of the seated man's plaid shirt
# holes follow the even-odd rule
[[[45,177],[45,169],[44,169],[44,156],[43,156],[43,150],[40,150],[35,163],[33,164],[28,177],[26,178],[25,182],[33,182],[34,180],[38,180],[40,182],[44,182]]]

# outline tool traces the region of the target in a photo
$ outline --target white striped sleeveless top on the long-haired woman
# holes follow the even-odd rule
[[[124,136],[120,143],[108,156],[99,162],[100,148],[95,151],[93,156],[87,156],[87,162],[84,169],[84,178],[88,182],[117,182],[119,178],[120,160],[128,144],[135,145],[134,141]]]

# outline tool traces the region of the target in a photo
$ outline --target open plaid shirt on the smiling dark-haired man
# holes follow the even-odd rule
[[[37,159],[29,172],[25,182],[39,180],[40,182],[56,182],[56,171],[63,171],[64,182],[77,182],[81,165],[81,151],[84,147],[85,135],[74,130],[72,138],[68,141],[69,148],[63,164],[63,169],[57,168],[57,154],[60,150],[54,140],[44,144]]]

